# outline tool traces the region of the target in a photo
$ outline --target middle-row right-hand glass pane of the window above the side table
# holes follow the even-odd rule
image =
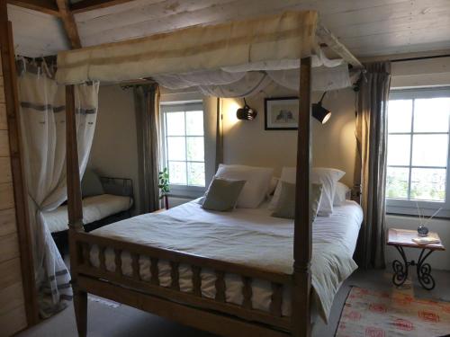
[[[448,135],[414,135],[412,165],[446,167],[447,146]]]

